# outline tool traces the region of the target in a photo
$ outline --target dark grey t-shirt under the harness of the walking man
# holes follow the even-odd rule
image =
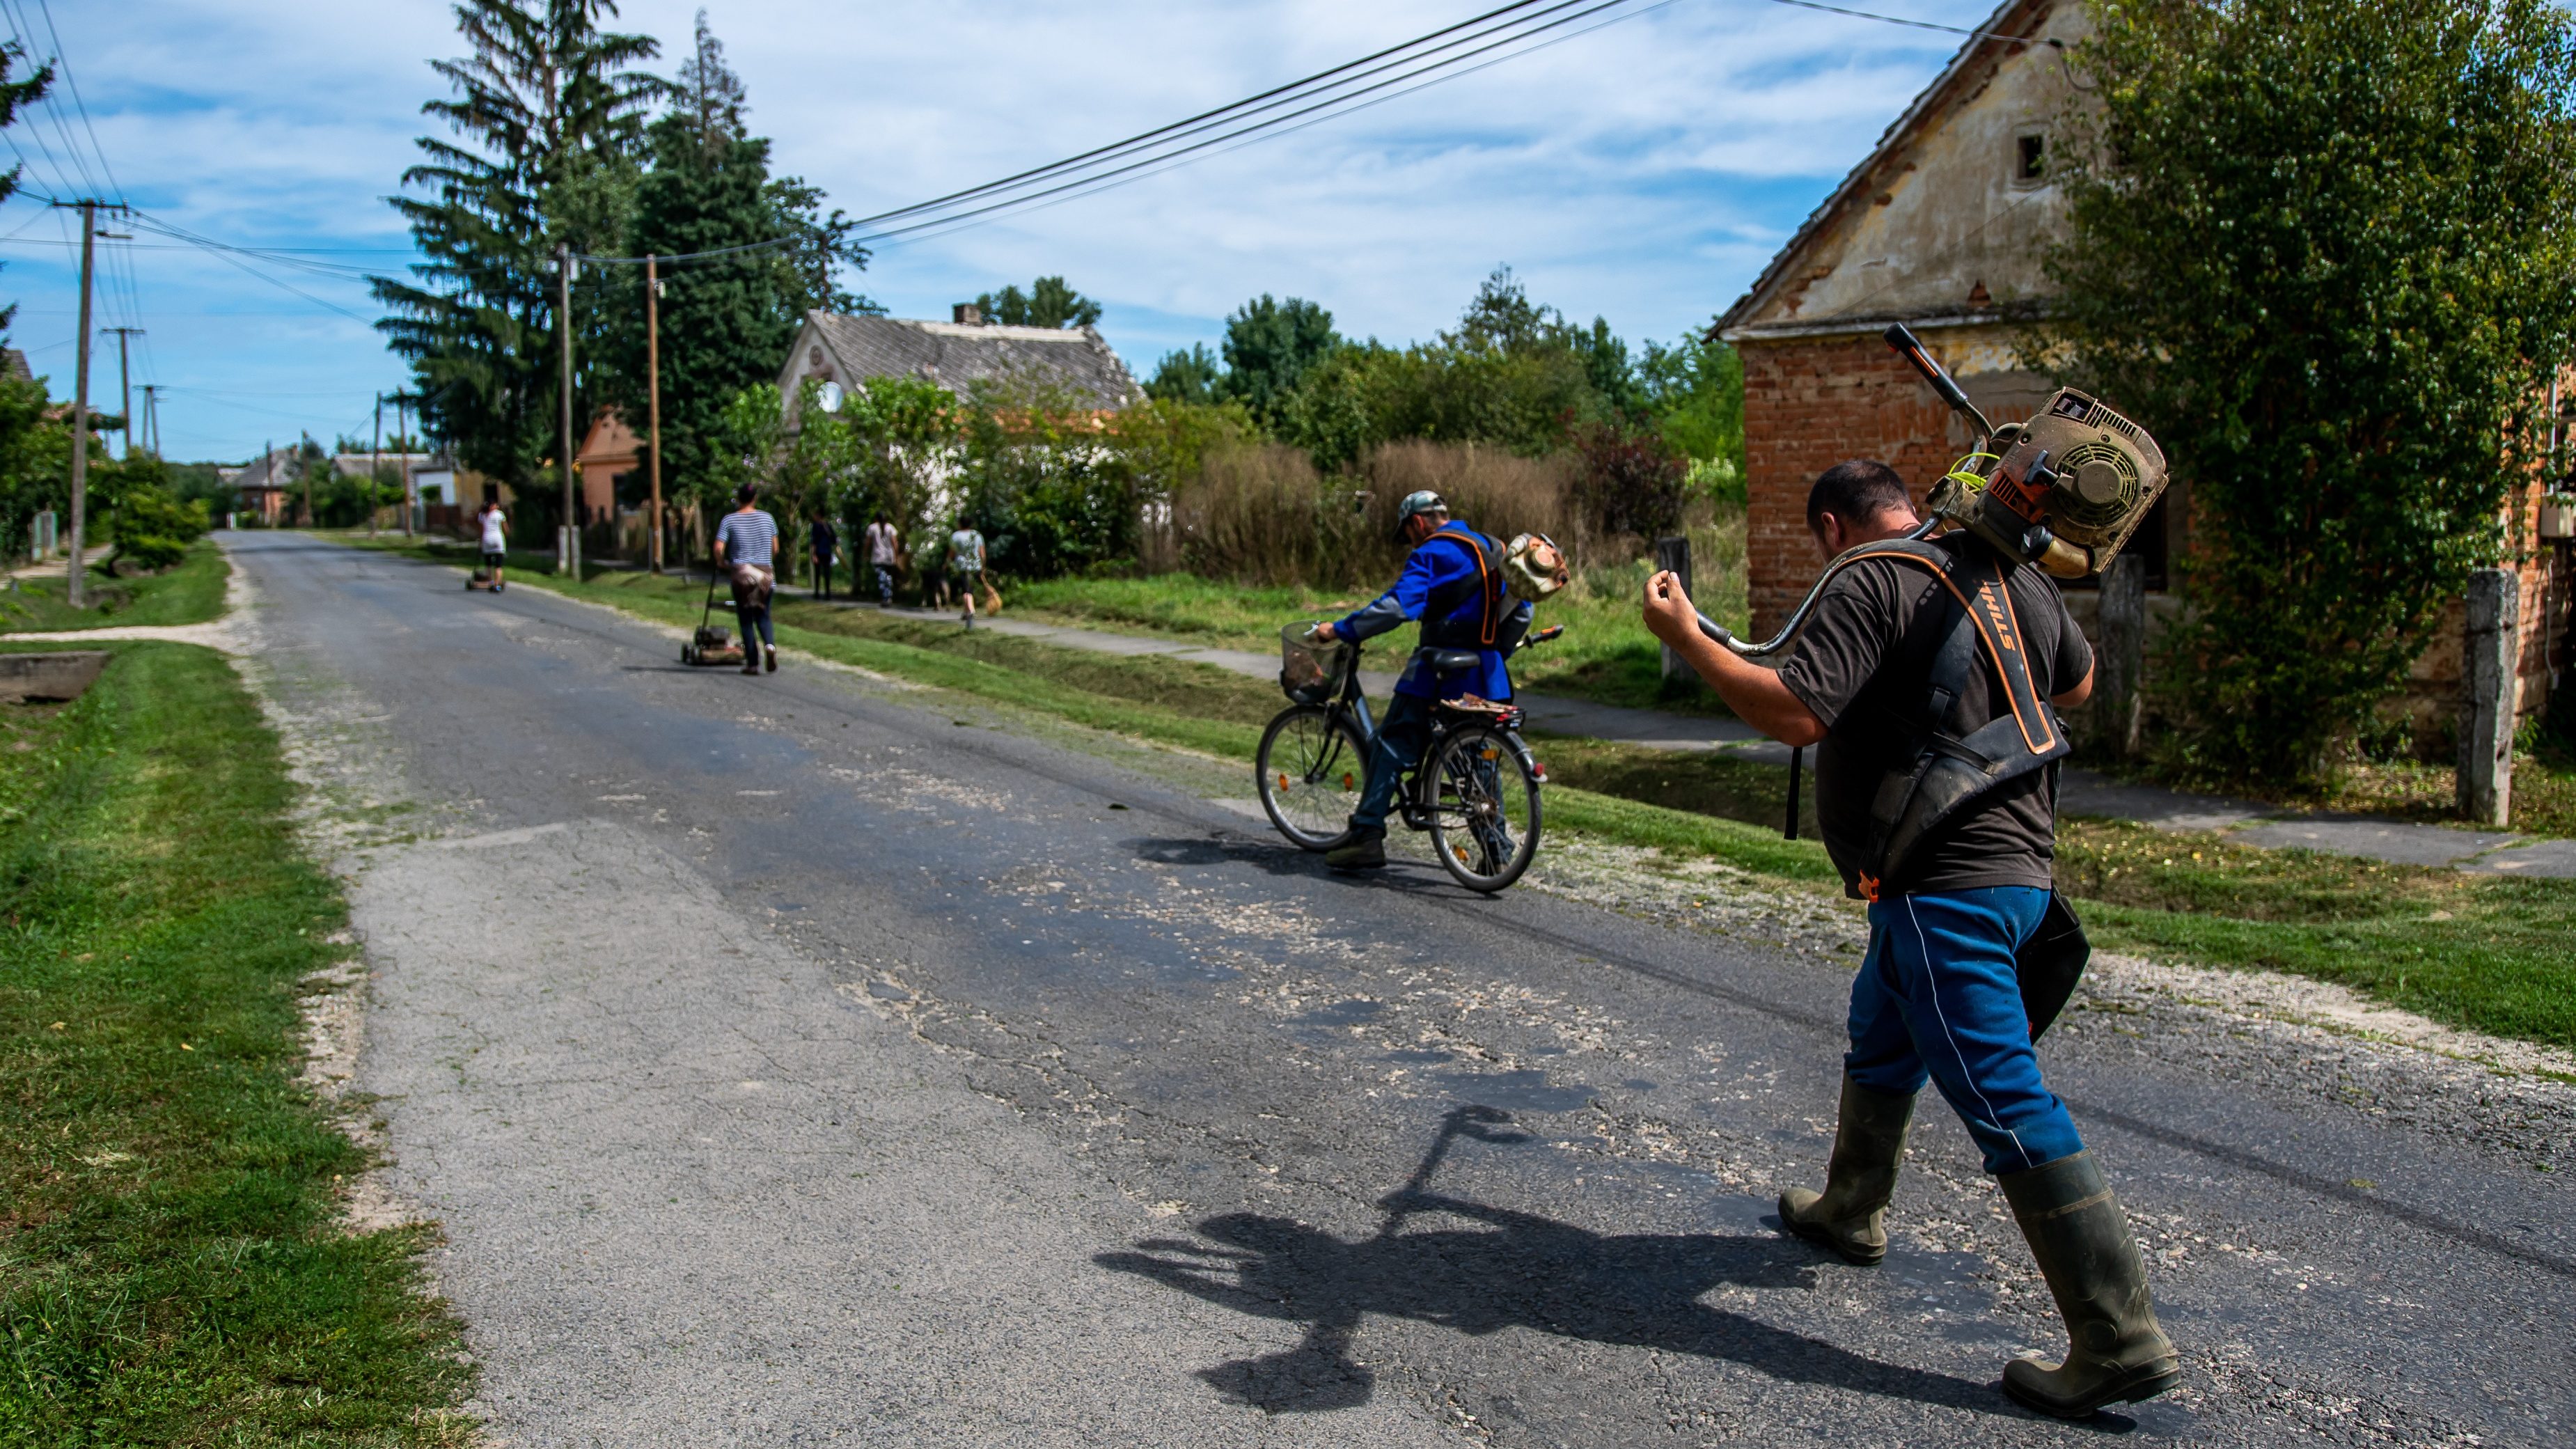
[[[1953,539],[1940,544],[1958,549]],[[2040,699],[2074,688],[2092,670],[2092,647],[2066,616],[2056,580],[2022,567],[2009,580],[2012,611],[2030,647]],[[1816,601],[1816,616],[1780,665],[1780,683],[1824,719],[1816,748],[1816,820],[1847,892],[1860,895],[1878,781],[1911,761],[1914,722],[1929,694],[1932,655],[1955,619],[1932,570],[1901,559],[1862,559],[1842,570]],[[1986,650],[1976,652],[1984,694],[1968,719],[1984,724],[2012,706]],[[1963,804],[1906,861],[1904,879],[1880,895],[1927,895],[1991,884],[2048,890],[2056,859],[2053,771],[2030,771]]]

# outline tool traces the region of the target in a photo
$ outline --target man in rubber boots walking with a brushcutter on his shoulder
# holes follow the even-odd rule
[[[1806,503],[1832,562],[1767,645],[1705,621],[1682,580],[1646,580],[1646,629],[1747,724],[1816,750],[1816,815],[1844,890],[1870,902],[1852,980],[1842,1109],[1824,1191],[1780,1222],[1852,1263],[1888,1253],[1886,1212],[1924,1080],[1965,1122],[2066,1318],[2063,1361],[2004,1364],[2004,1392],[2061,1418],[2182,1379],[2146,1261],[2032,1042],[2089,946],[2053,892],[2056,709],[2092,694],[2092,650],[2058,578],[2099,570],[2164,490],[2146,431],[2061,389],[1994,428],[1904,327],[1888,343],[1971,418],[1978,451],[1917,521],[1878,462],[1826,469]],[[1942,536],[1935,529],[1947,526]],[[1777,668],[1752,657],[1785,650]]]

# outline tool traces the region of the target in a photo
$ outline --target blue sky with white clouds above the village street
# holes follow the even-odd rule
[[[1646,0],[1633,0],[1638,8]],[[52,15],[46,8],[52,5]],[[708,21],[750,85],[781,170],[871,214],[981,183],[1455,23],[1473,0],[716,0]],[[1875,0],[1973,26],[1984,0]],[[631,0],[618,28],[688,49],[696,5]],[[428,59],[459,54],[425,0],[0,0],[31,49],[70,62],[113,186],[206,237],[314,248],[397,268],[384,196],[410,165]],[[52,34],[46,21],[52,18]],[[1672,0],[1481,75],[1151,180],[876,253],[855,289],[899,317],[1005,281],[1064,273],[1108,307],[1139,374],[1216,343],[1224,315],[1311,297],[1350,335],[1425,338],[1479,278],[1631,343],[1677,338],[1734,302],[1808,209],[1940,70],[1958,36],[1772,0]],[[26,191],[80,186],[70,95],[23,116]],[[90,180],[108,188],[90,162]],[[62,211],[0,206],[10,340],[72,392],[77,273]],[[404,384],[366,325],[366,289],[201,250],[100,242],[95,325],[139,325],[134,382],[162,384],[165,451],[242,459],[299,431],[363,433]],[[355,317],[350,317],[355,315]],[[116,405],[113,338],[93,397]]]

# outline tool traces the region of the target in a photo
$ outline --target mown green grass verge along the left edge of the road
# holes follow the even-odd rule
[[[209,650],[0,704],[0,1444],[464,1444],[425,1232],[343,1232],[366,1155],[296,1083],[348,946]]]

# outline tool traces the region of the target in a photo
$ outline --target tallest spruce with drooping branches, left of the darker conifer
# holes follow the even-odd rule
[[[456,139],[420,137],[428,160],[402,183],[428,196],[392,199],[425,260],[417,284],[376,284],[392,309],[379,327],[417,374],[425,431],[538,513],[551,490],[528,485],[559,451],[551,253],[559,240],[616,245],[641,116],[662,90],[631,70],[659,44],[600,31],[605,15],[613,0],[459,0],[471,54],[430,62],[456,93],[422,106]]]

